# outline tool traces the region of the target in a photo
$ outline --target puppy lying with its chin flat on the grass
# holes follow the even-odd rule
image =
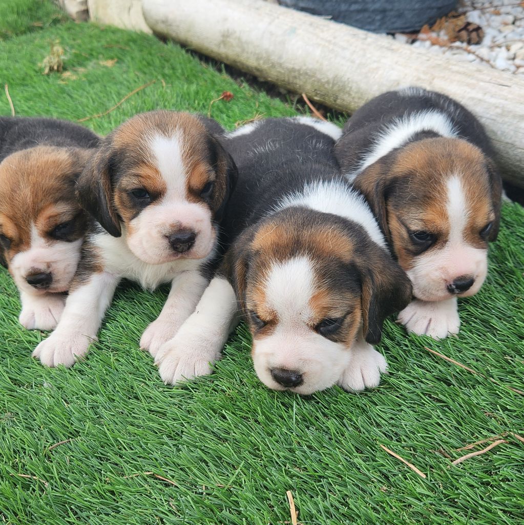
[[[268,387],[309,394],[379,384],[387,364],[371,344],[384,319],[408,304],[411,285],[364,199],[339,174],[332,153],[339,134],[300,117],[229,135],[224,145],[239,182],[222,227],[232,244],[158,357],[166,383],[210,372],[239,308]]]

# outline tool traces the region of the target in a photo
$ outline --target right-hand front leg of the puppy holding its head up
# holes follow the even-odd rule
[[[208,282],[198,271],[177,275],[160,315],[142,334],[140,348],[155,358],[161,346],[175,337],[181,324],[193,313]]]

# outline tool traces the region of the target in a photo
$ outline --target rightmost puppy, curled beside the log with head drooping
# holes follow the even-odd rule
[[[335,152],[413,284],[399,320],[435,339],[458,333],[457,297],[482,286],[500,222],[501,181],[482,125],[440,93],[390,91],[355,112]]]

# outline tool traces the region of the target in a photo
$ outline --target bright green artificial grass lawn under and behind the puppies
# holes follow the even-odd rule
[[[38,64],[57,39],[65,74],[44,76]],[[207,113],[224,90],[234,98],[215,102],[211,115],[228,129],[256,114],[295,114],[291,103],[175,44],[67,22],[40,0],[2,2],[0,80],[17,114],[71,120],[103,113],[155,81],[84,122],[99,133],[156,108]],[[1,92],[0,114],[9,113]],[[524,523],[524,443],[507,435],[507,443],[451,465],[469,443],[524,434],[524,396],[507,388],[524,390],[524,209],[506,204],[502,215],[487,282],[462,301],[458,338],[408,337],[388,322],[380,350],[391,373],[359,395],[267,390],[242,326],[215,374],[165,386],[138,340],[166,290],[152,295],[133,285],[117,292],[85,361],[47,369],[30,358],[46,334],[18,324],[17,290],[0,271],[0,518],[277,525],[291,522],[291,490],[304,525]]]

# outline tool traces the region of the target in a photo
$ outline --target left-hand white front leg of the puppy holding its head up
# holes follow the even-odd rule
[[[47,366],[69,367],[87,353],[119,281],[119,277],[99,272],[78,287],[73,282],[57,328],[36,347],[33,357]]]

